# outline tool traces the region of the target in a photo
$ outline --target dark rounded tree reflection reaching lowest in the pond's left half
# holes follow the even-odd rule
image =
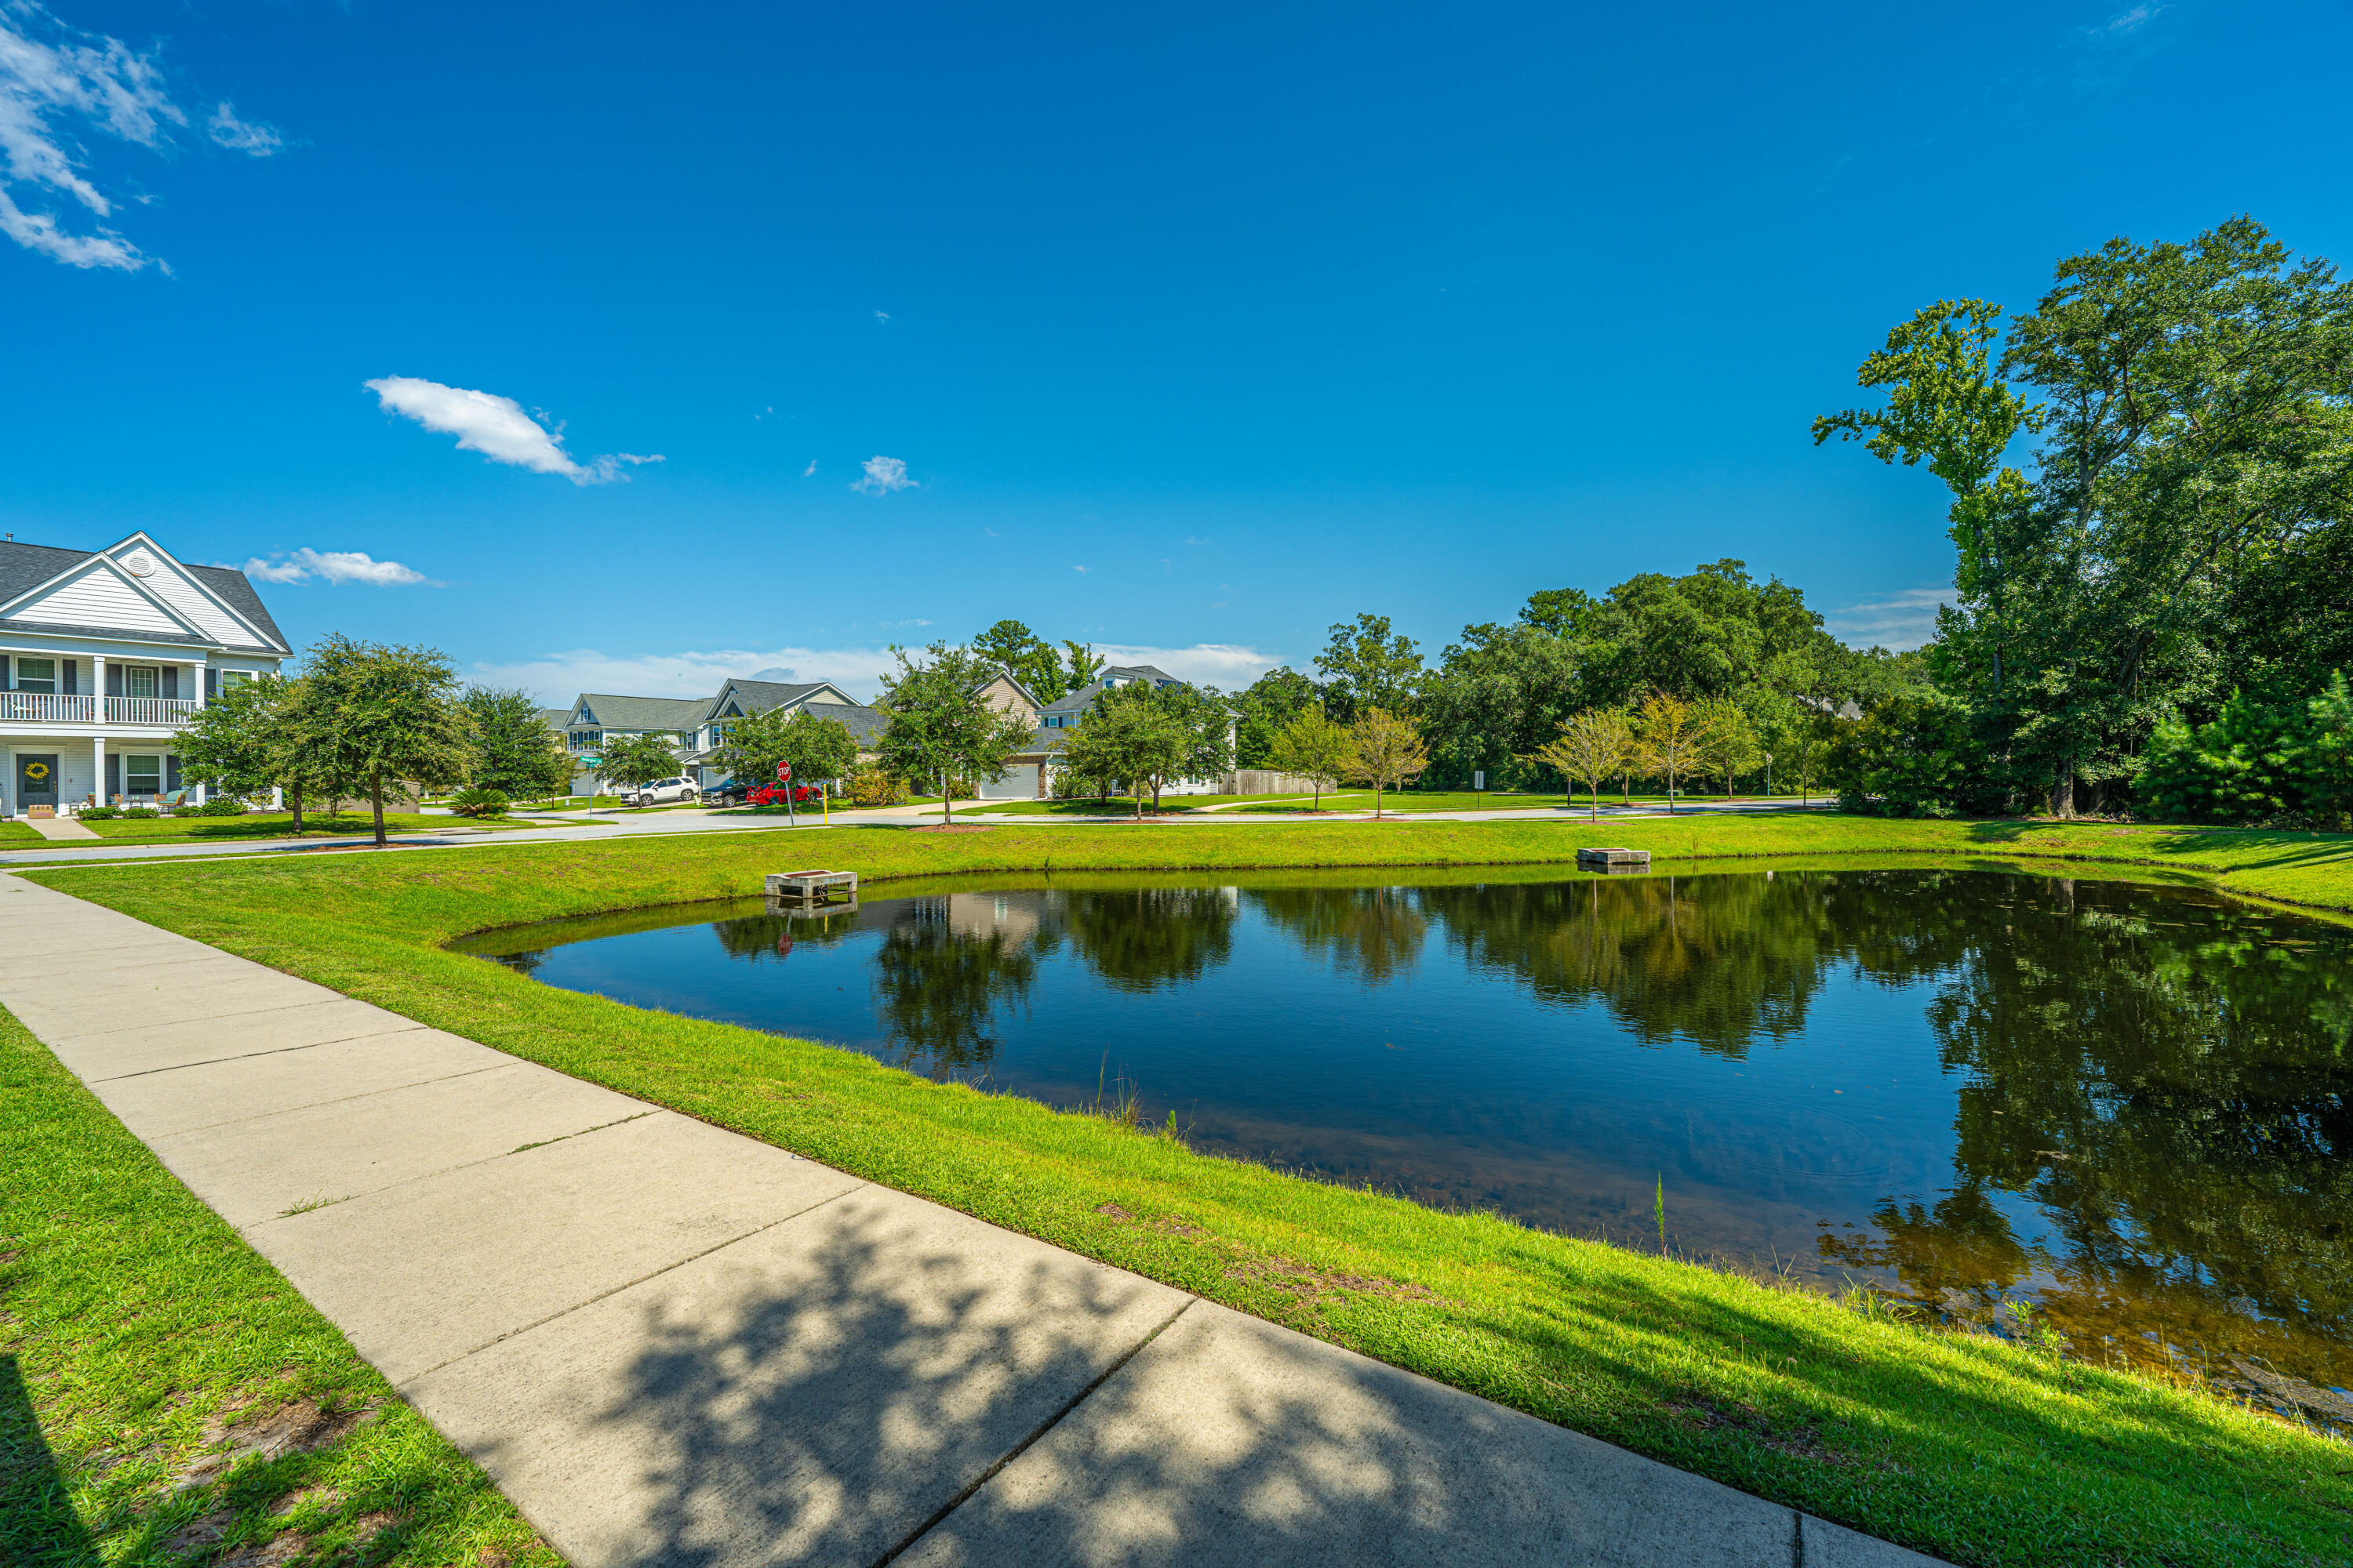
[[[913,898],[875,952],[875,1020],[904,1067],[976,1077],[998,1051],[998,1009],[1026,1004],[1038,938],[979,931],[946,898]]]

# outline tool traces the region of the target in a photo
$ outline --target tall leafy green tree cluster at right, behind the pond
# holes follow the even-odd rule
[[[2353,287],[2240,216],[1937,301],[1814,440],[1951,491],[1927,686],[1842,741],[1857,806],[2346,820]],[[2024,447],[2017,461],[2012,451]]]

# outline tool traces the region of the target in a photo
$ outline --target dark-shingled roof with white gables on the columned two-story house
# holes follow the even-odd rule
[[[165,571],[176,571],[193,583],[162,583],[167,592],[139,583],[129,571],[120,569],[120,555],[134,545],[144,545],[153,555],[160,555],[160,567]],[[56,583],[71,590],[75,571],[82,567],[96,567],[106,574],[111,595],[120,604],[139,611],[136,623],[108,623],[104,607],[92,597],[89,609],[78,609],[73,614],[87,616],[87,621],[75,618],[24,618],[21,611],[31,604],[19,604],[28,595]],[[87,574],[85,574],[87,576]],[[122,597],[129,595],[129,597]],[[33,599],[33,604],[47,602],[49,595]],[[209,602],[207,602],[209,599]],[[226,614],[224,614],[226,609]],[[202,623],[212,623],[205,630]],[[242,621],[242,625],[238,625]],[[155,543],[148,534],[132,534],[106,550],[61,550],[56,545],[24,545],[14,538],[0,541],[0,625],[21,632],[49,632],[66,637],[122,637],[132,642],[179,642],[195,649],[240,649],[254,654],[289,654],[285,632],[278,630],[278,621],[261,604],[261,595],[235,567],[191,567],[176,559],[169,550]]]

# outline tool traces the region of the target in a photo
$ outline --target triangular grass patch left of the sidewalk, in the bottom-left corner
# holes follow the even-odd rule
[[[292,1443],[233,1458],[254,1432]],[[562,1566],[0,1013],[0,1563],[169,1568],[214,1552]]]

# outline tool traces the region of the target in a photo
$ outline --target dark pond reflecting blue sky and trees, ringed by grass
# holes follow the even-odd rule
[[[993,877],[461,943],[1198,1150],[2353,1385],[2353,933],[2000,870]]]

